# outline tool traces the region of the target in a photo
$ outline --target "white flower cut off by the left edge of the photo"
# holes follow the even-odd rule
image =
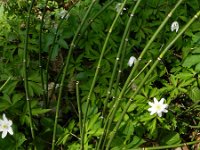
[[[12,121],[8,120],[6,118],[6,115],[3,114],[3,120],[0,119],[0,132],[2,133],[2,138],[5,138],[7,133],[10,133],[11,135],[13,135],[13,129],[12,129]]]

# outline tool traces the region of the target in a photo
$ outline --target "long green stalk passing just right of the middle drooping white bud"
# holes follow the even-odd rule
[[[161,31],[161,29],[164,27],[164,25],[167,23],[167,21],[169,20],[169,18],[172,16],[172,14],[174,13],[174,11],[176,10],[176,8],[181,4],[183,0],[179,0],[178,3],[174,6],[174,8],[170,11],[170,13],[167,15],[167,17],[164,19],[164,21],[161,23],[161,25],[159,26],[159,28],[156,30],[156,32],[154,33],[154,35],[151,37],[151,39],[149,40],[149,42],[146,44],[145,48],[143,49],[142,53],[140,54],[138,60],[136,61],[136,63],[134,64],[134,67],[132,68],[131,70],[131,73],[130,75],[128,76],[123,88],[122,88],[122,91],[120,92],[117,100],[115,101],[115,104],[113,105],[110,113],[108,116],[111,116],[109,118],[107,118],[108,120],[108,125],[105,124],[106,127],[106,132],[109,132],[110,130],[110,127],[111,127],[111,124],[112,124],[112,121],[114,119],[114,116],[116,114],[116,111],[119,107],[119,104],[120,104],[120,101],[126,91],[126,88],[128,86],[128,84],[130,83],[131,81],[131,78],[133,76],[133,73],[135,72],[135,70],[137,69],[138,65],[139,65],[139,62],[141,61],[141,59],[143,58],[144,54],[147,52],[148,48],[150,47],[150,45],[152,44],[152,42],[154,41],[154,39],[157,37],[158,33]],[[105,138],[106,139],[106,138]]]

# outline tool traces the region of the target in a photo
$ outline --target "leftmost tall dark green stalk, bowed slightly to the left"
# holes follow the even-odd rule
[[[30,27],[31,10],[32,10],[34,3],[35,3],[35,0],[32,0],[31,5],[30,5],[29,10],[28,10],[28,16],[27,16],[27,20],[26,20],[26,35],[25,35],[25,43],[24,43],[24,56],[23,56],[24,86],[25,86],[26,102],[27,102],[28,113],[29,113],[29,123],[30,123],[30,129],[31,129],[31,136],[32,136],[33,140],[35,139],[35,134],[34,134],[33,123],[32,123],[30,96],[29,96],[29,92],[28,92],[27,51],[28,51],[28,34],[29,34],[29,27]]]

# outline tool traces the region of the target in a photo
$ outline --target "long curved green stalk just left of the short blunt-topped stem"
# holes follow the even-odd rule
[[[71,54],[72,54],[72,51],[74,50],[75,48],[75,41],[78,37],[78,34],[81,30],[81,28],[83,27],[86,19],[87,19],[87,16],[88,14],[90,13],[93,5],[95,4],[96,0],[93,0],[81,22],[81,24],[79,25],[77,31],[76,31],[76,34],[74,35],[74,38],[71,42],[71,45],[70,45],[70,49],[69,49],[69,53],[67,55],[67,59],[65,60],[65,63],[64,63],[64,69],[63,69],[63,75],[62,75],[62,79],[61,79],[61,83],[60,83],[60,89],[59,89],[59,94],[58,94],[58,101],[57,101],[57,106],[56,106],[56,115],[55,115],[55,122],[54,122],[54,130],[53,130],[53,138],[52,138],[52,150],[55,149],[55,139],[56,139],[56,129],[57,129],[57,122],[58,122],[58,114],[59,114],[59,108],[60,108],[60,101],[61,101],[61,96],[62,96],[62,90],[63,90],[63,84],[64,84],[64,80],[65,80],[65,76],[66,76],[66,72],[67,72],[67,69],[68,69],[68,66],[69,66],[69,60],[70,60],[70,57],[71,57]],[[83,141],[82,141],[83,142]]]

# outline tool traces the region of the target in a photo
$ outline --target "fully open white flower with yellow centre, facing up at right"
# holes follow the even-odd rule
[[[150,111],[150,115],[153,115],[155,113],[158,114],[159,117],[162,117],[162,113],[167,113],[168,110],[166,109],[168,107],[167,104],[164,104],[164,98],[161,98],[161,100],[158,102],[158,100],[154,97],[154,103],[149,102],[149,105],[151,108],[148,109]]]

